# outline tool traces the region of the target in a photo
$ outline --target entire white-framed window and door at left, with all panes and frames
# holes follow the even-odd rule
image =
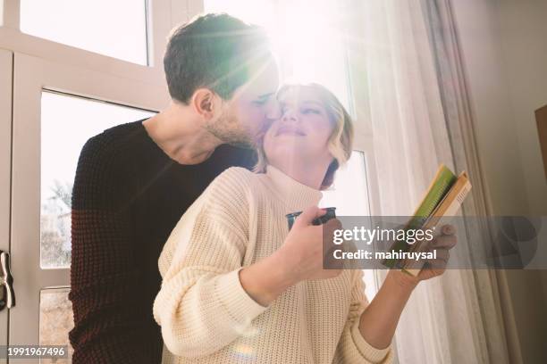
[[[0,248],[11,253],[17,297],[0,315],[2,345],[68,344],[70,207],[81,147],[169,102],[161,62],[147,61],[147,37],[155,37],[158,60],[172,16],[183,18],[170,1],[149,3],[154,12],[145,0],[0,0]],[[69,347],[69,358],[40,362],[71,356]]]

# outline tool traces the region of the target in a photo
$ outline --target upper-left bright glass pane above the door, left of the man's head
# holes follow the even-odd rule
[[[147,64],[145,0],[21,0],[21,31]]]

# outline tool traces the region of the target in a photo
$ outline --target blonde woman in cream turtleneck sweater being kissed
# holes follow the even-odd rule
[[[311,221],[349,159],[352,123],[318,85],[283,87],[278,99],[282,117],[259,144],[261,173],[223,172],[164,246],[154,303],[164,363],[391,362],[409,294],[442,272],[391,270],[368,305],[361,270],[322,269],[323,247],[310,236],[323,230]],[[285,214],[302,210],[289,233]],[[455,238],[437,244],[450,248]]]

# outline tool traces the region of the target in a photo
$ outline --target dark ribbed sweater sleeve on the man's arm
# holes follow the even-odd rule
[[[116,155],[102,137],[80,153],[72,193],[71,292],[74,328],[72,362],[157,362],[161,342],[150,342],[144,327],[150,310],[139,299],[138,264],[123,211]]]

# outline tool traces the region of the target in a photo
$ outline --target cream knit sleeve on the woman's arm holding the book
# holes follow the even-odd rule
[[[342,362],[344,364],[377,364],[391,363],[393,353],[391,345],[385,349],[376,349],[367,343],[359,331],[361,314],[368,305],[365,295],[365,283],[363,282],[363,270],[355,269],[354,283],[351,291],[351,304],[349,305],[348,321],[338,343]]]

